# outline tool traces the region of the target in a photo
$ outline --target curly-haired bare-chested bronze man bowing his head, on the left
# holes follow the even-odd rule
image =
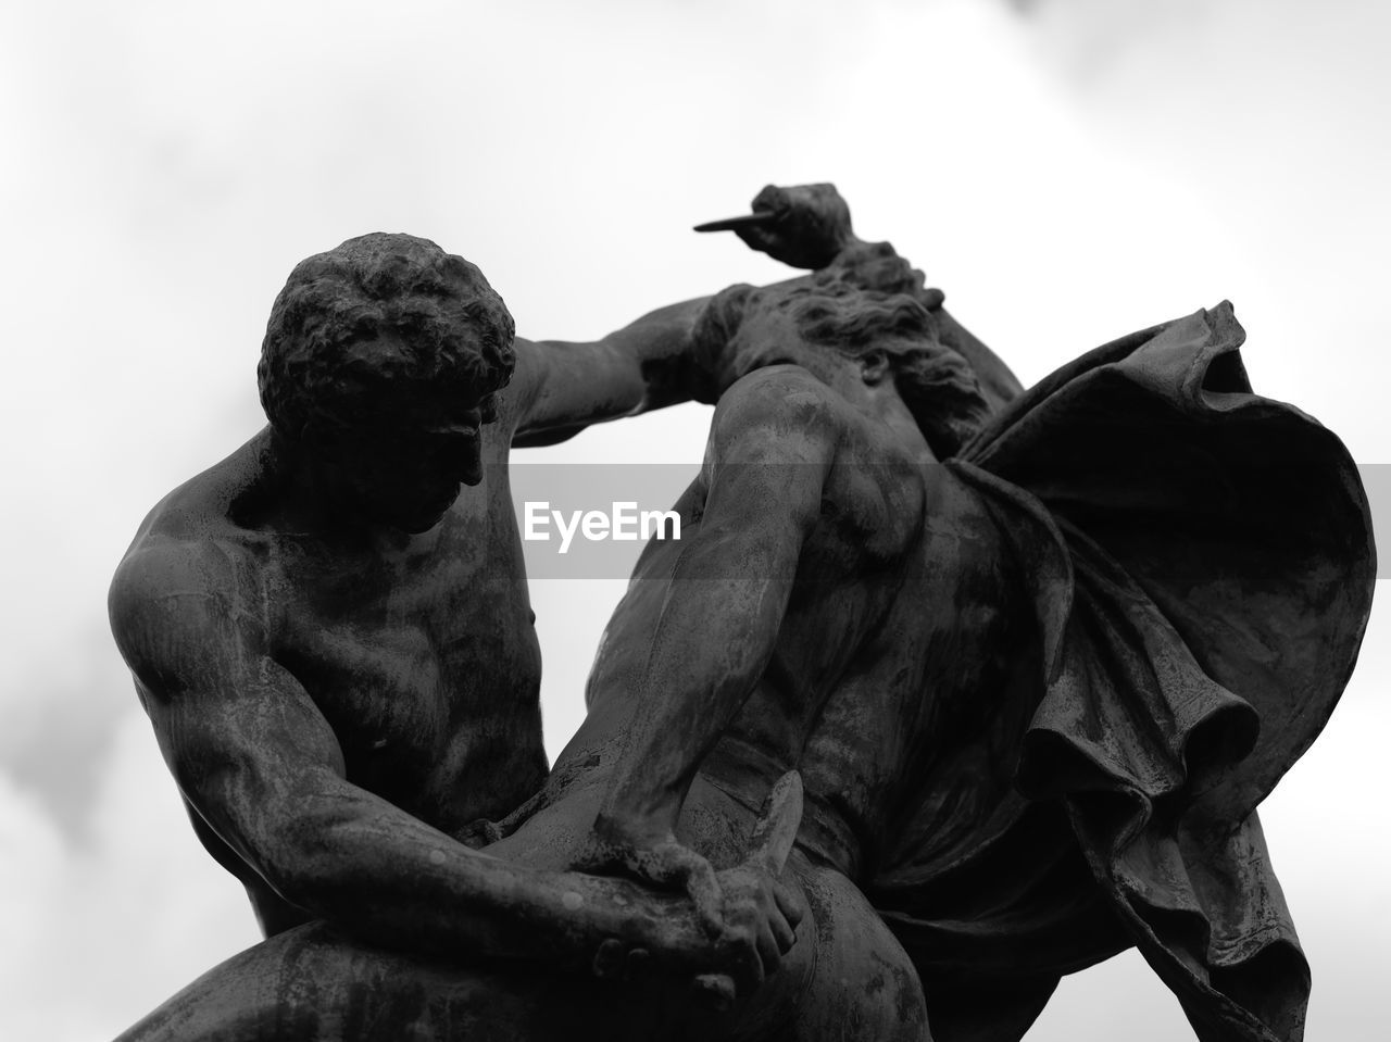
[[[509,441],[673,401],[662,360],[694,313],[513,344],[481,273],[431,242],[367,235],[295,268],[259,370],[270,426],[152,511],[110,597],[193,828],[267,936],[324,920],[581,963],[623,936],[690,975],[776,965],[771,881],[721,931],[470,846],[547,772]]]

